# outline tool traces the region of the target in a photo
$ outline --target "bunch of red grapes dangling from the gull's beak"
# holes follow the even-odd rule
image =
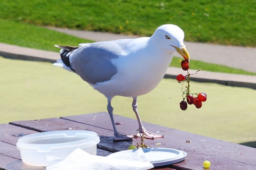
[[[180,65],[181,65],[183,70],[188,72],[189,63],[188,63],[187,60],[181,61]],[[200,70],[198,70],[198,71],[200,71]],[[196,106],[196,108],[201,108],[202,107],[202,102],[206,101],[206,99],[207,99],[207,95],[204,92],[196,94],[196,93],[193,93],[193,92],[190,91],[190,84],[189,84],[190,83],[190,75],[193,75],[193,74],[190,74],[188,72],[187,75],[179,74],[176,77],[176,79],[179,81],[179,83],[182,83],[182,93],[183,93],[182,97],[183,97],[183,100],[180,102],[180,108],[181,108],[182,111],[185,111],[188,108],[188,104],[189,105],[194,104]],[[184,82],[187,82],[187,86],[185,87],[185,89],[183,89]],[[194,97],[193,95],[196,95],[196,97]],[[185,101],[185,99],[187,101]]]

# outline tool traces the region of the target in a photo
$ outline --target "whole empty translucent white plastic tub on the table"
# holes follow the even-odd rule
[[[66,158],[77,148],[96,155],[99,142],[99,136],[92,131],[50,131],[21,137],[17,142],[17,148],[20,150],[23,163],[46,166],[46,155]]]

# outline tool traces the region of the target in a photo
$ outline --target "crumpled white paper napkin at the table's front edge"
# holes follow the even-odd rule
[[[141,148],[122,159],[90,155],[82,149],[76,149],[65,159],[47,156],[46,169],[146,170],[153,167]]]

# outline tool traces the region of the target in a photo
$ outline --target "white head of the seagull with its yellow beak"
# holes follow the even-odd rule
[[[156,43],[166,50],[178,52],[185,60],[190,61],[189,53],[183,43],[184,32],[177,25],[165,24],[156,29],[151,36]],[[151,39],[150,38],[150,39]]]

